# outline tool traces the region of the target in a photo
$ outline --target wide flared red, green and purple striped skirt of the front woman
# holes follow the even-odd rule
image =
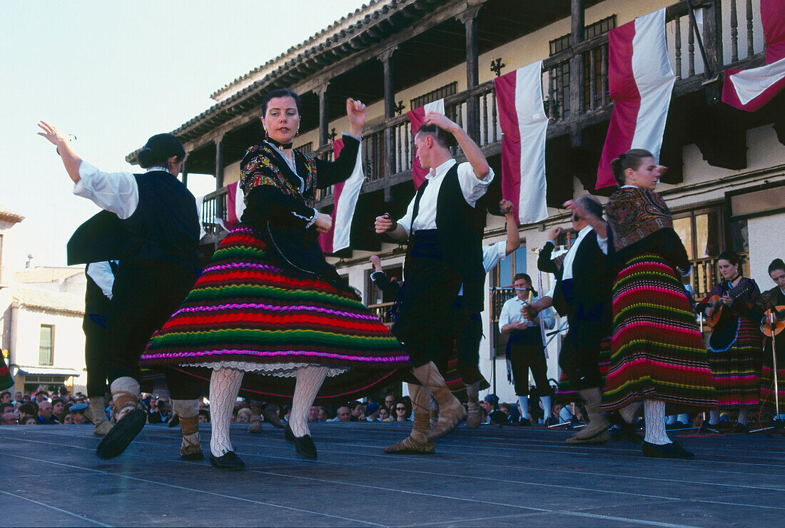
[[[403,347],[354,293],[288,271],[272,244],[241,224],[214,253],[180,309],[141,356],[204,382],[214,368],[246,372],[242,394],[287,401],[304,366],[327,366],[316,401],[378,390],[409,364]]]

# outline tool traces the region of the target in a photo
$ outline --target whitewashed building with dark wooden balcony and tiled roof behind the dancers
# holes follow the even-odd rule
[[[544,60],[543,105],[550,117],[546,143],[550,217],[520,226],[524,246],[489,274],[481,369],[502,400],[513,400],[506,380],[504,341],[495,327],[517,271],[535,278],[536,249],[553,226],[568,226],[565,200],[593,192],[613,102],[608,95],[608,31],[666,8],[666,38],[677,75],[661,162],[670,171],[659,191],[674,211],[675,227],[696,274],[696,296],[717,281],[717,255],[736,249],[747,273],[769,287],[766,268],[782,247],[785,222],[785,97],[754,113],[720,101],[723,72],[764,64],[759,0],[378,0],[336,21],[299,46],[268,60],[213,94],[216,104],[173,133],[184,142],[184,173],[209,173],[216,191],[203,202],[208,249],[224,232],[226,185],[238,180],[239,160],[261,140],[261,99],[290,88],[303,101],[296,148],[330,158],[330,139],[348,128],[346,97],[367,104],[363,184],[352,224],[351,249],[330,259],[367,304],[383,315],[389,299],[374,291],[368,257],[400,274],[404,248],[373,232],[373,219],[400,217],[414,195],[413,138],[406,111],[444,98],[447,115],[480,144],[497,174],[488,191],[485,242],[504,238],[494,204],[501,198],[501,140],[493,79]],[[705,51],[705,60],[701,52]],[[136,162],[137,152],[126,158]],[[458,158],[460,152],[456,152]],[[604,198],[603,198],[604,199]],[[319,195],[329,213],[333,196]],[[571,235],[564,236],[568,246]],[[542,277],[547,289],[550,279]],[[558,336],[550,345],[550,377],[558,378]],[[498,375],[495,371],[498,370]]]

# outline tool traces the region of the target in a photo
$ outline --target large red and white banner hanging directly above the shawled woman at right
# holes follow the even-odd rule
[[[608,33],[608,89],[613,114],[597,169],[597,188],[616,184],[611,162],[630,148],[659,159],[676,76],[665,42],[665,9]]]

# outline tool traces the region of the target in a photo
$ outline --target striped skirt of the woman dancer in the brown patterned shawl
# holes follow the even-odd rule
[[[681,281],[656,254],[624,264],[613,285],[603,409],[659,399],[668,413],[717,406],[706,348]]]

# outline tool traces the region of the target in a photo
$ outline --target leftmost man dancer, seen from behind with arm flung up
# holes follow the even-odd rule
[[[196,201],[177,180],[185,160],[171,134],[151,137],[139,154],[144,174],[105,173],[82,161],[64,136],[46,122],[38,133],[57,147],[74,194],[101,211],[79,226],[68,242],[68,264],[120,260],[107,324],[107,375],[117,422],[97,455],[117,457],[144,428],[138,408],[139,356],[191,290],[198,274],[199,216]],[[203,457],[199,444],[198,387],[166,372],[183,434],[180,456]]]

